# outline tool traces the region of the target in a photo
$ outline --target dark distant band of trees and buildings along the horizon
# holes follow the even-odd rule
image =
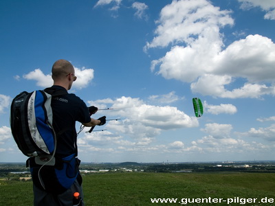
[[[133,172],[272,172],[275,162],[236,162],[236,163],[81,163],[80,170],[109,170],[123,172],[127,168]],[[127,170],[127,171],[129,171]],[[0,163],[0,176],[10,172],[28,172],[25,163]]]

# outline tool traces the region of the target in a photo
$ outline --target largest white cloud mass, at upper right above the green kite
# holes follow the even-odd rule
[[[188,82],[193,93],[202,95],[261,98],[275,94],[275,44],[255,34],[224,47],[220,30],[234,25],[230,11],[206,0],[173,1],[162,9],[157,24],[155,37],[144,51],[171,48],[151,62],[156,74]],[[226,89],[237,78],[246,81],[243,86]]]

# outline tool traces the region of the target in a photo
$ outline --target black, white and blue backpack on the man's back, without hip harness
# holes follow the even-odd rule
[[[43,157],[49,161],[56,151],[56,134],[52,126],[52,97],[65,95],[65,91],[52,93],[37,90],[23,91],[11,104],[10,127],[19,150],[27,157]]]

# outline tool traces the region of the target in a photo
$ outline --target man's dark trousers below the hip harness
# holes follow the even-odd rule
[[[74,192],[79,192],[80,197],[83,200],[83,189],[79,185],[78,181],[74,181],[71,187],[66,192],[59,195],[54,195],[45,190],[40,190],[33,185],[34,189],[34,206],[67,206],[73,205]],[[84,206],[84,203],[82,203]]]

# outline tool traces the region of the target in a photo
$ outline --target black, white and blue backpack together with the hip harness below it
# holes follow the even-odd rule
[[[80,163],[76,154],[63,158],[55,154],[58,135],[67,129],[55,133],[51,103],[53,97],[66,94],[50,89],[23,91],[12,100],[10,110],[12,136],[19,150],[30,157],[27,166],[34,184],[55,194],[65,192],[74,183]]]

